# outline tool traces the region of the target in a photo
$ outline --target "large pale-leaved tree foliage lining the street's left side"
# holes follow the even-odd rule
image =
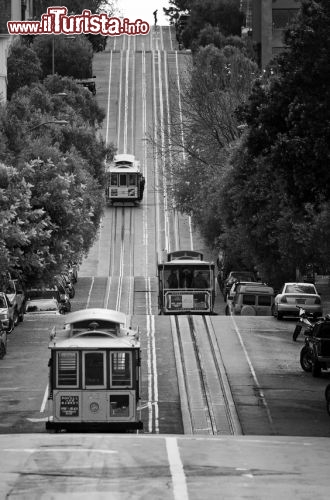
[[[87,253],[114,151],[98,134],[103,117],[89,91],[58,75],[0,109],[0,272],[47,282]]]

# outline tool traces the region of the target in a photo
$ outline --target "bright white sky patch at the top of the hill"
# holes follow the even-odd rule
[[[168,8],[168,0],[117,0],[118,10],[131,22],[136,19],[154,24],[153,12],[157,9],[158,25],[169,24],[168,18],[163,13],[163,7]]]

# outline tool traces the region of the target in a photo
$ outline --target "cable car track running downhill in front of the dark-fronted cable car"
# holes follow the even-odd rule
[[[185,433],[242,434],[209,317],[171,317]]]

